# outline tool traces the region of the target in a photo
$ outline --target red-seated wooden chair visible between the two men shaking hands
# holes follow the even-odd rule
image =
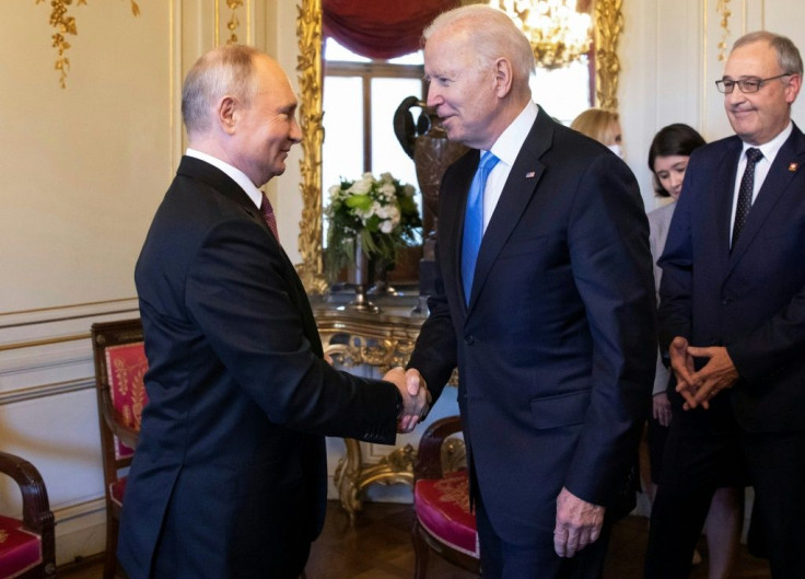
[[[480,572],[478,534],[475,514],[469,510],[466,465],[458,470],[447,465],[456,462],[455,454],[464,459],[463,444],[448,439],[460,429],[462,422],[457,416],[442,418],[424,431],[419,442],[413,464],[416,518],[411,531],[416,555],[415,579],[424,579],[431,552],[463,569]]]

